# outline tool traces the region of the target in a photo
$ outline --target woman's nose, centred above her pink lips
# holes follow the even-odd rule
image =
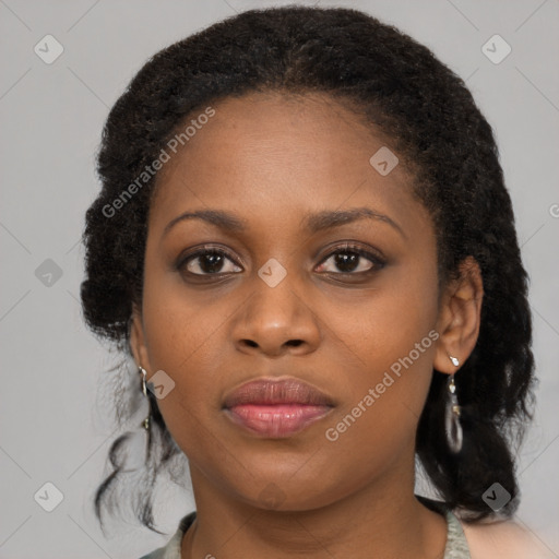
[[[314,352],[320,344],[321,329],[317,309],[311,308],[302,289],[290,281],[290,274],[273,287],[255,277],[252,293],[234,323],[237,348],[273,357],[288,352],[296,355]]]

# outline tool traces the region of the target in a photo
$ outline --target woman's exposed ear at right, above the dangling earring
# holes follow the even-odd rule
[[[457,367],[450,356],[462,365],[472,354],[479,334],[484,284],[479,264],[473,257],[459,266],[459,277],[452,280],[442,296],[437,332],[433,367],[440,372],[454,373]],[[460,365],[459,365],[460,367]]]

